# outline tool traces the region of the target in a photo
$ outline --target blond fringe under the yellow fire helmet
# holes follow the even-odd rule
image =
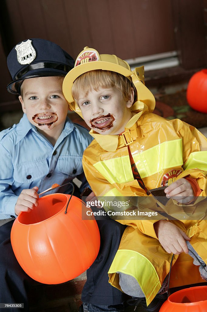
[[[104,71],[96,69],[87,71],[79,76],[73,83],[72,95],[78,100],[78,96],[87,96],[89,91],[97,91],[99,88],[116,87],[123,98],[128,101],[131,88],[134,88],[132,82],[125,76],[114,71]]]

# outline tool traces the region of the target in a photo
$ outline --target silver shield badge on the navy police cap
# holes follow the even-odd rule
[[[36,51],[32,46],[32,41],[30,39],[17,44],[15,50],[17,54],[17,61],[21,65],[30,64],[36,57]]]

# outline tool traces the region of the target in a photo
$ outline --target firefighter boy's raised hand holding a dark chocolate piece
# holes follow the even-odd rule
[[[164,192],[167,194],[167,198],[171,197],[172,199],[176,199],[177,202],[183,204],[191,202],[194,199],[191,183],[184,178],[171,183]]]

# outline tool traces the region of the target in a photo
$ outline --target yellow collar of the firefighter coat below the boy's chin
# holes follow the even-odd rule
[[[125,125],[125,131],[127,129],[130,129],[139,119],[139,117],[142,115],[143,111],[148,110],[147,106],[141,102],[137,101],[132,106],[132,112],[136,113]],[[91,136],[97,141],[97,143],[102,147],[102,149],[105,149],[108,152],[115,152],[118,146],[118,139],[119,135],[113,135],[113,134],[99,134],[96,133],[94,130],[91,129],[89,132]]]

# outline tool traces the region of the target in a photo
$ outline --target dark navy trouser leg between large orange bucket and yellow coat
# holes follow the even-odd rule
[[[98,211],[97,208],[92,208]],[[131,298],[108,282],[108,271],[119,248],[123,224],[112,220],[109,216],[101,217],[96,222],[101,236],[101,246],[92,266],[87,270],[87,282],[82,290],[82,301],[96,305],[118,305]]]

